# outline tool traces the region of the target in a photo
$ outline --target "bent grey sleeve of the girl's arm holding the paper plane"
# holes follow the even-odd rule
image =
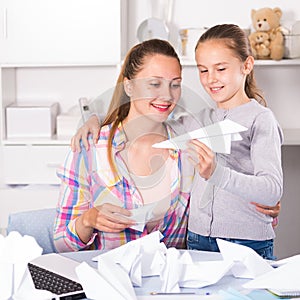
[[[246,201],[273,206],[283,191],[283,134],[271,112],[258,115],[251,130],[253,175],[237,172],[218,162],[208,182]]]

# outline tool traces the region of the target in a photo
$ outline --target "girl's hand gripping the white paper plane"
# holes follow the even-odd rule
[[[213,151],[198,140],[188,143],[188,153],[190,161],[200,176],[209,179],[216,168],[216,159]]]

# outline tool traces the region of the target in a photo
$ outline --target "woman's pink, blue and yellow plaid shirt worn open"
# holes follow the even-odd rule
[[[60,252],[81,249],[109,250],[131,240],[145,236],[143,232],[127,228],[119,233],[94,230],[90,241],[83,243],[75,229],[77,217],[88,209],[104,202],[117,203],[126,209],[143,206],[143,199],[130,178],[121,159],[120,150],[125,146],[126,137],[119,125],[113,138],[112,153],[119,174],[114,174],[108,163],[107,144],[111,125],[101,128],[98,143],[88,151],[69,151],[64,164],[57,170],[61,179],[57,217],[54,227],[54,242]],[[167,128],[168,135],[173,135]],[[170,186],[170,207],[162,220],[152,229],[159,230],[167,247],[185,247],[189,198],[194,171],[185,154],[170,150],[172,159],[172,184]],[[97,201],[97,204],[95,202]]]

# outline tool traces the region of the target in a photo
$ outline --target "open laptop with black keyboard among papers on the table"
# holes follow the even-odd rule
[[[53,299],[86,299],[75,268],[80,263],[57,253],[41,255],[28,264],[36,289],[48,290]]]

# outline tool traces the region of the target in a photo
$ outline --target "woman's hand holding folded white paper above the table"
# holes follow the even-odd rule
[[[76,232],[81,241],[87,243],[94,229],[103,232],[121,232],[134,225],[135,221],[131,220],[130,216],[129,210],[105,203],[82,214],[76,221]]]

